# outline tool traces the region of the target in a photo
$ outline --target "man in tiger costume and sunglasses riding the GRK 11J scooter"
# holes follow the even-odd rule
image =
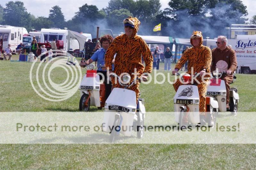
[[[128,73],[131,76],[131,81],[136,76],[141,77],[143,81],[147,81],[147,74],[152,71],[153,56],[146,42],[136,35],[139,30],[140,21],[136,17],[129,17],[124,19],[123,22],[125,34],[116,37],[110,44],[105,54],[105,65],[109,68],[109,74],[114,72],[120,76],[122,73]],[[112,70],[112,60],[115,54],[115,69]],[[144,59],[145,68],[141,63],[141,56]],[[136,73],[134,74],[135,71]],[[112,85],[113,88],[123,88],[118,82],[115,84],[114,78],[112,78]],[[136,101],[138,102],[139,83],[137,82],[131,86],[130,90],[136,92]]]

